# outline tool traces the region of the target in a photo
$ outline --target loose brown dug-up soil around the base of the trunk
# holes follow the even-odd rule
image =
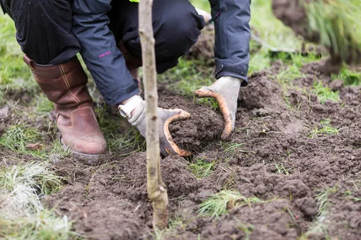
[[[283,92],[275,78],[279,69],[275,62],[269,71],[254,73],[241,89],[229,142],[219,139],[223,124],[218,111],[159,86],[161,107],[192,114],[172,124],[171,131],[193,158],[161,160],[171,219],[164,239],[244,239],[247,234],[249,239],[297,239],[314,229],[319,213],[315,196],[326,187],[337,191],[328,197],[324,232],[308,232],[309,239],[361,239],[361,88],[333,82],[317,71],[317,64],[308,64],[304,77],[292,80],[294,88]],[[340,101],[319,103],[310,92],[314,80],[338,90]],[[7,119],[9,112],[1,109],[0,118]],[[324,119],[331,119],[339,133],[310,138]],[[239,147],[227,150],[235,144]],[[212,174],[197,179],[188,167],[196,160],[215,161]],[[145,152],[127,157],[115,152],[95,165],[70,156],[52,168],[64,176],[64,188],[44,203],[73,220],[75,232],[89,239],[156,239]],[[263,203],[229,209],[219,219],[198,216],[202,200],[222,189]]]

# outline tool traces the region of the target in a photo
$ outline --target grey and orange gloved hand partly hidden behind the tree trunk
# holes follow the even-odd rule
[[[190,118],[188,112],[182,109],[157,109],[158,114],[158,131],[159,131],[159,145],[161,148],[161,154],[164,157],[168,155],[180,155],[181,157],[190,156],[191,153],[187,150],[178,148],[178,145],[174,143],[171,133],[169,131],[169,124],[173,121],[180,121]],[[128,119],[130,124],[136,126],[145,138],[146,135],[146,118],[145,118],[145,101],[134,109],[132,117]]]

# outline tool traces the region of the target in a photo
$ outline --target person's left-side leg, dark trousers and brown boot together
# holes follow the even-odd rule
[[[75,56],[80,45],[71,32],[69,2],[13,0],[10,11],[25,63],[55,103],[62,143],[85,155],[104,153],[107,145],[86,88],[88,78]]]

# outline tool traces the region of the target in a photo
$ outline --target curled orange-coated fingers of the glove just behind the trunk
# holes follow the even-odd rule
[[[171,132],[169,131],[169,124],[171,124],[173,121],[181,121],[185,119],[190,118],[190,114],[188,112],[183,111],[182,109],[171,109],[168,110],[170,112],[174,112],[174,114],[171,114],[168,119],[164,122],[164,135],[166,136],[166,141],[168,142],[167,146],[164,146],[166,152],[170,155],[178,154],[181,157],[188,157],[191,155],[191,152],[181,149],[178,147],[178,145],[174,142]],[[164,153],[162,152],[164,155]]]

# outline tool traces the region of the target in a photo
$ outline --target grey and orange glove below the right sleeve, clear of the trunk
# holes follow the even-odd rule
[[[234,130],[236,121],[237,98],[242,83],[241,78],[222,77],[213,85],[195,91],[195,97],[213,97],[217,100],[224,119],[222,139],[226,139]]]

